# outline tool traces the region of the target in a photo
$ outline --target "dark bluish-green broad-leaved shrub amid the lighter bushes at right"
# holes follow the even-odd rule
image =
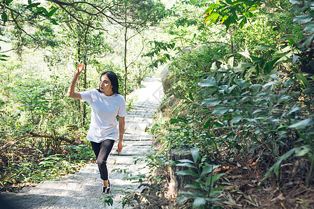
[[[313,118],[304,120],[306,109],[294,103],[300,94],[291,87],[300,82],[281,80],[277,75],[254,77],[252,71],[241,69],[243,65],[234,66],[233,59],[221,64],[220,68],[214,65],[216,70],[200,83],[204,87],[200,92],[204,97],[202,104],[209,107],[214,117],[209,120],[228,121],[225,128],[232,127],[235,133],[245,129],[238,135],[240,139],[251,138],[260,144],[280,141],[281,146],[293,147],[299,138],[290,128],[304,128],[302,132],[305,133],[305,128],[313,125]],[[293,125],[298,123],[303,126]],[[313,132],[305,134],[310,139]],[[274,155],[278,148],[271,149]]]

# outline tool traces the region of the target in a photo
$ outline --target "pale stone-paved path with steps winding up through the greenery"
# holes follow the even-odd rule
[[[1,199],[10,203],[11,208],[122,208],[124,196],[131,192],[140,192],[144,187],[138,180],[124,180],[124,171],[132,176],[148,173],[144,159],[154,152],[152,137],[146,132],[153,123],[153,115],[163,95],[163,88],[156,79],[144,79],[144,88],[136,91],[137,101],[126,117],[124,148],[116,152],[117,143],[108,158],[110,183],[112,183],[113,206],[105,206],[101,194],[100,175],[96,164],[89,164],[80,172],[69,174],[57,180],[43,180],[36,187],[24,187],[19,193],[2,192]],[[138,160],[134,164],[135,159]],[[0,208],[5,208],[1,205]]]

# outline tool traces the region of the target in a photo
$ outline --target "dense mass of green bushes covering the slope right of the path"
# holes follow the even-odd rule
[[[311,60],[308,53],[313,53],[313,48],[308,41],[313,42],[313,36],[307,36],[301,25],[292,21],[295,14],[284,9],[284,2],[274,1],[274,8],[268,4],[256,7],[253,4],[257,1],[243,2],[248,4],[225,1],[225,6],[213,4],[205,11],[209,18],[205,22],[216,23],[218,15],[221,23],[225,21],[229,28],[225,38],[232,47],[212,42],[172,61],[168,69],[173,84],[161,108],[168,119],[157,123],[152,132],[159,136],[162,150],[199,148],[209,164],[226,165],[239,155],[247,161],[246,167],[248,160],[260,160],[261,169],[268,170],[260,187],[271,172],[276,173],[277,180],[288,173],[281,169],[284,160],[292,165],[304,161],[307,173],[300,174],[299,183],[311,186],[314,82],[310,71],[299,69],[304,59]],[[242,13],[242,6],[246,10],[247,6],[255,7],[250,22],[239,26],[235,20],[227,22],[226,18],[240,18],[234,10]],[[302,12],[309,10],[305,7]],[[241,18],[248,20],[246,15]],[[297,44],[303,38],[307,47]],[[201,208],[209,203],[208,199],[197,201]]]

